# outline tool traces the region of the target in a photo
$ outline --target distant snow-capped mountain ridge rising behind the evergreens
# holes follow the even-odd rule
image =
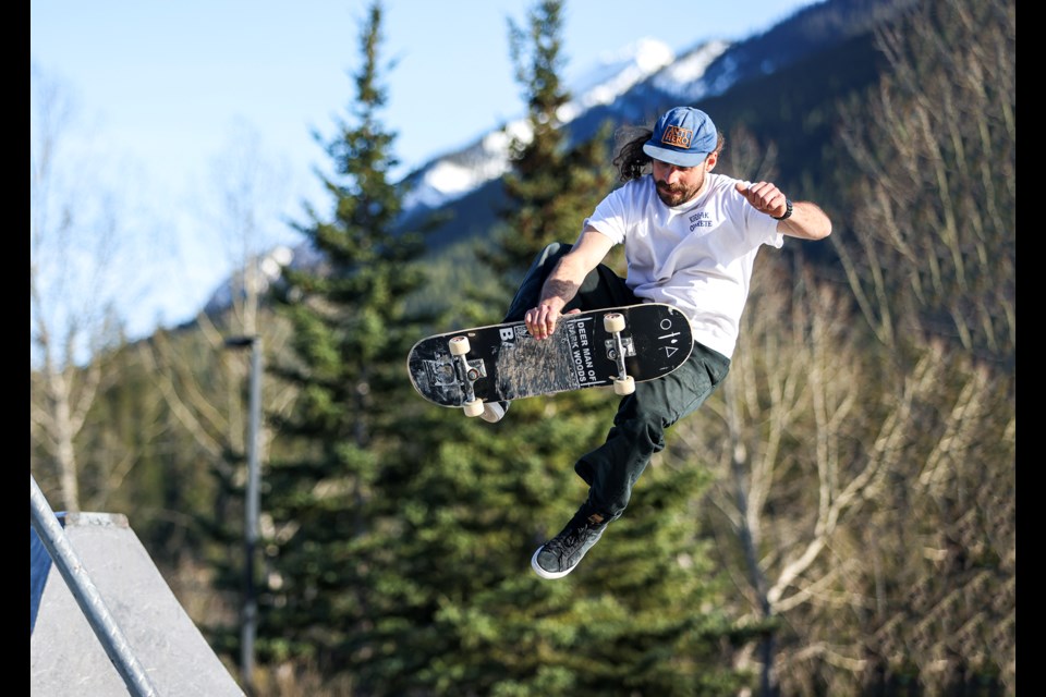
[[[592,137],[607,120],[653,125],[667,108],[700,106],[745,83],[774,75],[867,34],[917,1],[822,0],[762,34],[733,44],[705,41],[679,56],[660,41],[642,39],[572,81],[568,85],[572,98],[558,115],[572,139]],[[528,124],[521,115],[411,172],[401,182],[405,191],[403,219],[453,207],[476,195],[508,172],[511,140],[525,143],[530,137]],[[475,208],[473,205],[471,215],[479,215]],[[482,227],[484,222],[489,221],[472,224]],[[281,257],[285,255],[285,250],[279,252]],[[318,262],[307,244],[299,245],[292,256],[294,267]],[[275,280],[269,274],[263,278]],[[238,285],[235,279],[223,284],[208,302],[207,311],[228,306]]]

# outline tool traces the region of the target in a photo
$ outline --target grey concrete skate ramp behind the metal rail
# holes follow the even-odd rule
[[[163,697],[242,697],[240,688],[163,580],[125,516],[59,514],[66,538],[131,651]],[[29,528],[29,693],[125,697],[109,660],[36,530]]]

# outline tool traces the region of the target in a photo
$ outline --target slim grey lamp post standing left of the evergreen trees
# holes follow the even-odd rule
[[[226,340],[232,348],[251,347],[251,425],[247,443],[247,496],[244,506],[244,573],[243,624],[240,641],[240,670],[248,694],[254,693],[254,637],[258,625],[258,604],[255,599],[254,565],[258,542],[258,499],[260,473],[258,468],[258,438],[262,425],[262,338],[234,337]]]

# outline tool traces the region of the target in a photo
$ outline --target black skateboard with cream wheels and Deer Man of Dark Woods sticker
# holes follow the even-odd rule
[[[644,303],[563,315],[540,341],[522,321],[436,334],[414,344],[406,369],[429,402],[478,416],[485,402],[598,387],[631,394],[683,365],[693,347],[685,315]]]

